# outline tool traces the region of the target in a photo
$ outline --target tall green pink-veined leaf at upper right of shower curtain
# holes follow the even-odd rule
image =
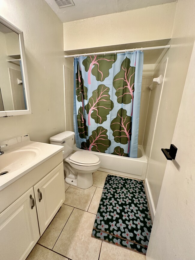
[[[117,101],[120,104],[129,104],[134,98],[135,67],[131,67],[130,62],[129,58],[125,58],[121,64],[121,70],[113,79]]]

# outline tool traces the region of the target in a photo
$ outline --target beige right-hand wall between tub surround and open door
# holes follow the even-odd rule
[[[161,148],[169,148],[177,120],[187,69],[195,39],[195,2],[177,2],[176,17],[171,39],[171,48],[157,64],[162,66],[168,57],[167,72],[162,88],[161,100],[156,118],[155,131],[150,152],[147,180],[156,209],[167,159]]]

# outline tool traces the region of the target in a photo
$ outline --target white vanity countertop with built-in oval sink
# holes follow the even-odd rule
[[[8,171],[8,173],[0,176],[0,190],[62,151],[63,148],[61,145],[51,145],[30,140],[1,148],[4,154],[0,155],[0,172]],[[7,163],[10,157],[13,158],[11,160],[13,162]]]

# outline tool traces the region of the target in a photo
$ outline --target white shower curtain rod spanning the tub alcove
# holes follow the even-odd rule
[[[154,47],[144,47],[144,48],[134,48],[134,49],[125,49],[125,50],[118,50],[118,51],[110,51],[110,52],[91,52],[91,53],[83,53],[83,54],[74,54],[74,55],[64,55],[65,58],[70,57],[78,57],[78,56],[91,56],[91,55],[100,55],[100,54],[111,54],[111,53],[121,53],[121,52],[132,52],[132,51],[144,51],[144,50],[155,50],[155,49],[169,49],[171,45],[164,45],[164,46],[154,46]]]

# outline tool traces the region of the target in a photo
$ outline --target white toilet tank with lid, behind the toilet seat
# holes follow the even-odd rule
[[[72,131],[65,131],[49,138],[52,145],[63,145],[63,159],[73,151],[74,135]]]

